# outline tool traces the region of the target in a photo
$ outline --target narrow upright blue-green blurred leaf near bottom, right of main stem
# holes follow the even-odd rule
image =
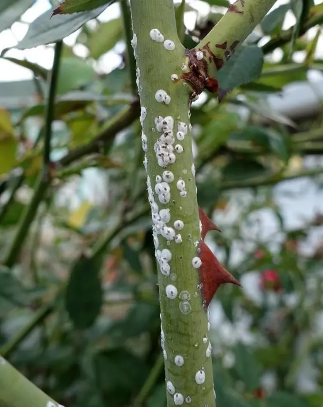
[[[234,353],[236,356],[234,367],[239,378],[245,383],[246,390],[255,390],[259,386],[260,368],[254,355],[242,343],[238,343]]]

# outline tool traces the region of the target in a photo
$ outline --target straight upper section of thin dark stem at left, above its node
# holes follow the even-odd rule
[[[49,80],[49,92],[48,92],[48,102],[46,106],[46,122],[45,122],[45,140],[44,140],[44,152],[43,152],[43,165],[46,168],[49,164],[49,156],[50,156],[50,140],[51,140],[51,125],[54,118],[54,110],[55,110],[55,93],[56,93],[56,85],[58,80],[58,73],[60,68],[61,62],[61,54],[63,49],[63,41],[58,41],[55,44],[55,53],[54,53],[54,61],[53,67],[50,74]]]

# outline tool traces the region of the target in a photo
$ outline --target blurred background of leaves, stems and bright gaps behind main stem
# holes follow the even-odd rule
[[[5,0],[1,29],[32,3]],[[227,2],[181,5],[191,48]],[[1,56],[33,79],[0,83],[0,354],[65,407],[165,406],[140,123],[111,131],[125,109],[138,117],[129,19],[114,6],[119,17],[103,22],[95,11],[56,24],[48,10],[16,46],[78,29],[60,64],[50,185],[11,268],[42,166],[49,70]],[[322,21],[319,2],[279,3],[219,72],[232,92],[220,104],[202,94],[192,108],[198,200],[222,229],[207,241],[244,286],[220,288],[210,305],[219,407],[323,406]],[[100,68],[104,55],[111,71]]]

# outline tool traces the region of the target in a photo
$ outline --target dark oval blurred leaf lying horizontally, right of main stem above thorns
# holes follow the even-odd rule
[[[222,169],[223,179],[228,181],[243,180],[269,172],[262,164],[251,158],[237,158]]]

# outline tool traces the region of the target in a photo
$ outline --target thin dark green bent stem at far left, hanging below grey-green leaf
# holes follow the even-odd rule
[[[7,267],[12,267],[16,261],[17,256],[20,253],[21,246],[23,245],[27,235],[29,228],[32,224],[32,221],[37,213],[37,209],[39,204],[41,203],[48,185],[48,163],[49,163],[49,153],[50,153],[50,138],[51,138],[51,123],[53,119],[53,106],[54,106],[54,99],[55,99],[55,91],[56,91],[56,84],[57,84],[57,76],[58,76],[58,69],[62,54],[62,43],[58,42],[55,45],[55,56],[54,56],[54,63],[52,74],[49,83],[49,94],[48,94],[48,105],[46,111],[46,133],[45,133],[45,143],[44,143],[44,165],[42,170],[39,172],[35,189],[33,192],[32,200],[29,206],[23,212],[18,229],[16,231],[16,235],[14,240],[11,244],[9,252],[4,260],[4,265]]]

